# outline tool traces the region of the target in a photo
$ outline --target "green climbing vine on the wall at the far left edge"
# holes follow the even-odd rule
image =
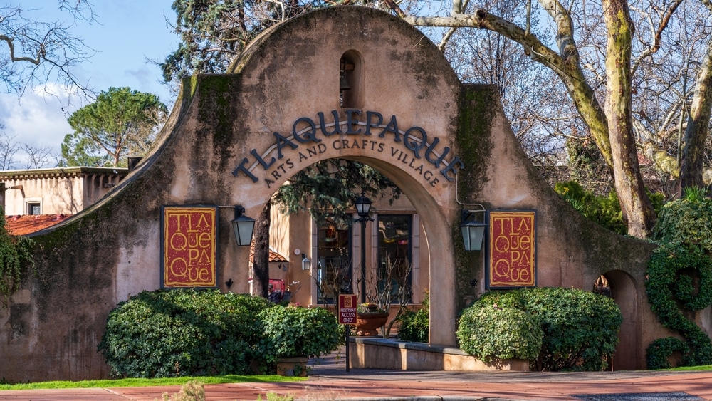
[[[6,308],[17,291],[22,275],[32,269],[32,240],[11,235],[6,229],[5,214],[0,209],[0,309]]]

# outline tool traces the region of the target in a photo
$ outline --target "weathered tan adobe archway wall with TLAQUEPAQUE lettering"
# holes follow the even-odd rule
[[[279,185],[334,157],[380,170],[417,210],[431,261],[431,344],[456,346],[457,314],[484,289],[470,285],[486,281],[483,254],[464,251],[459,228],[464,204],[478,203],[536,212],[537,286],[589,290],[607,275],[625,316],[617,367],[644,368],[646,346],[671,335],[644,294],[653,246],[563,202],[497,96],[462,84],[423,33],[381,11],[331,7],[269,29],[228,73],[184,81],[155,148],[108,196],[33,236],[37,274],[0,311],[0,377],[108,376],[96,349],[109,311],[162,285],[162,207],[227,206],[216,208],[216,286],[248,292],[249,250],[235,244],[231,206],[258,217]],[[312,234],[293,236],[311,249]]]

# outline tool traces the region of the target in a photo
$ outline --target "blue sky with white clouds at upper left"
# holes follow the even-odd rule
[[[147,59],[162,61],[177,48],[178,38],[167,24],[167,21],[172,24],[175,22],[175,13],[171,9],[173,1],[91,2],[96,21],[78,21],[73,32],[75,36],[83,38],[85,44],[96,53],[88,63],[78,66],[75,73],[80,79],[89,80],[90,86],[97,93],[112,86],[127,86],[132,90],[158,95],[169,110],[172,109],[173,98],[169,88],[161,83],[161,71]],[[18,1],[11,0],[8,4],[16,5]],[[58,11],[55,0],[22,0],[19,4],[23,9],[36,9],[28,15],[36,16],[38,20],[67,18],[66,13]],[[61,98],[66,99],[62,88],[56,90]],[[0,122],[5,125],[5,132],[14,136],[15,140],[36,147],[49,146],[53,153],[58,154],[64,136],[71,132],[67,123],[68,113],[91,101],[83,100],[81,104],[77,102],[63,112],[64,104],[48,95],[38,95],[28,90],[18,99],[14,94],[3,93],[0,94]],[[24,162],[14,166],[23,167]]]

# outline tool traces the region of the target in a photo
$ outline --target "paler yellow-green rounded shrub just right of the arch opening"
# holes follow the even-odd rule
[[[486,362],[492,358],[530,360],[539,355],[544,333],[531,313],[478,304],[467,308],[459,323],[461,350]]]

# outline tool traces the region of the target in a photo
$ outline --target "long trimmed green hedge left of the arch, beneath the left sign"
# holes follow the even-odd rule
[[[246,375],[273,371],[278,358],[337,350],[342,332],[324,308],[219,290],[157,290],[110,312],[98,350],[118,377]]]

